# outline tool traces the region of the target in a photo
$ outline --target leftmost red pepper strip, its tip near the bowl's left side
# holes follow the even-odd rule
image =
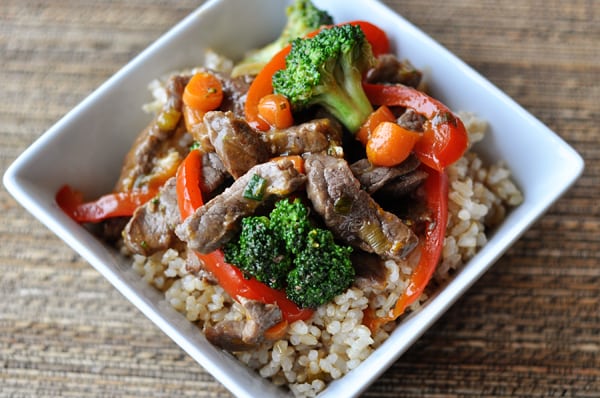
[[[55,200],[78,223],[97,223],[108,218],[132,216],[135,209],[154,198],[157,193],[156,189],[116,192],[84,202],[80,192],[64,185],[56,193]]]

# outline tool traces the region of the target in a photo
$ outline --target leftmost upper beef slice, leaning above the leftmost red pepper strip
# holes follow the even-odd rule
[[[181,114],[181,96],[188,81],[187,76],[173,76],[168,80],[166,103],[161,113],[140,133],[127,153],[115,186],[116,192],[129,192],[149,183],[153,169],[161,161],[168,160],[172,151],[179,153],[176,157],[178,159],[187,154],[191,137],[187,134],[183,118],[178,118],[177,115]]]

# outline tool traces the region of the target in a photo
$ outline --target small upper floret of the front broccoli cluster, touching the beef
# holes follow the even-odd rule
[[[286,250],[298,254],[311,229],[308,208],[298,198],[292,202],[282,199],[275,204],[270,218],[271,229],[283,240]]]

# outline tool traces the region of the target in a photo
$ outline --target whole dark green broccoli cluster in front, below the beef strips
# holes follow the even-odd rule
[[[354,281],[350,246],[335,243],[331,231],[315,228],[300,199],[283,199],[269,216],[242,220],[239,236],[224,247],[225,261],[300,307],[331,301]]]

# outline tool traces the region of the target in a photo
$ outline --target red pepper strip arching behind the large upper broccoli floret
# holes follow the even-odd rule
[[[358,25],[367,38],[367,41],[371,44],[373,55],[378,56],[389,52],[390,42],[386,33],[376,25],[373,25],[367,21],[351,21],[343,24]],[[324,27],[322,29],[325,29]],[[313,37],[317,35],[321,29],[317,29],[314,32],[309,33],[306,37]],[[280,69],[285,68],[285,57],[287,57],[292,46],[288,44],[281,49],[277,54],[271,58],[271,60],[261,69],[256,75],[254,81],[250,85],[248,94],[246,96],[246,104],[244,105],[244,112],[246,114],[246,121],[250,126],[257,130],[267,131],[270,126],[263,120],[258,112],[258,103],[260,99],[265,95],[273,93],[273,75]]]

